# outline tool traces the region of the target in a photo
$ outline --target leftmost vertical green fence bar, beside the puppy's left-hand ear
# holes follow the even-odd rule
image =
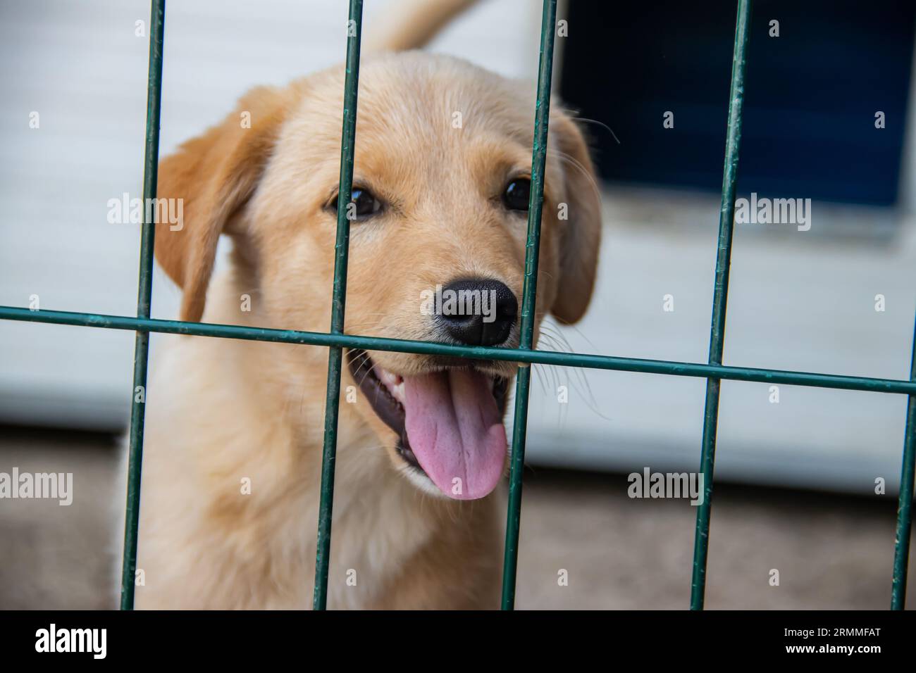
[[[143,166],[143,202],[156,198],[159,164],[159,110],[162,101],[162,41],[165,31],[166,0],[153,0],[149,16],[149,70],[147,71],[147,147]],[[155,224],[147,222],[144,209],[140,233],[140,272],[136,292],[136,317],[149,318],[153,298],[153,243]],[[140,520],[140,472],[143,468],[143,422],[147,397],[147,354],[149,332],[136,332],[134,345],[134,389],[130,408],[130,449],[127,461],[127,505],[125,511],[124,559],[121,568],[121,609],[134,609],[136,534]]]

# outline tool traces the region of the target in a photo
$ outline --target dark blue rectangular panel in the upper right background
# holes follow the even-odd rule
[[[561,93],[619,139],[587,125],[605,179],[721,189],[735,7],[570,1]],[[897,201],[914,26],[914,0],[757,0],[739,192]]]

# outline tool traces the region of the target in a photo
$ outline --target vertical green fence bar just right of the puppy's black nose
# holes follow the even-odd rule
[[[551,78],[553,74],[553,39],[556,35],[557,0],[544,0],[540,22],[540,67],[538,101],[534,114],[534,146],[531,149],[531,193],[528,204],[528,241],[525,244],[525,285],[521,301],[521,342],[519,348],[531,348],[534,340],[535,297],[538,290],[538,256],[540,254],[540,212],[544,195],[544,167],[547,163],[547,131],[551,114]],[[512,466],[509,477],[509,501],[506,516],[506,550],[503,558],[503,610],[515,607],[516,570],[518,568],[518,526],[521,520],[521,483],[525,467],[525,436],[528,430],[528,396],[531,365],[518,368],[515,418],[512,427]]]

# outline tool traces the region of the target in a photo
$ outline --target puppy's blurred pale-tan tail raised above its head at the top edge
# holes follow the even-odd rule
[[[477,0],[400,0],[365,26],[365,51],[420,49]]]

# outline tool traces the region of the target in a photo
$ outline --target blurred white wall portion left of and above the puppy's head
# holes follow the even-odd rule
[[[538,4],[488,0],[431,49],[534,77]],[[391,5],[366,0],[366,30]],[[341,0],[169,2],[160,155],[249,88],[344,60],[346,19]],[[148,35],[147,0],[0,5],[0,303],[36,295],[43,309],[136,314],[138,228],[106,214],[109,199],[142,195],[149,42],[137,21]],[[155,317],[174,317],[178,293],[161,272],[153,297]],[[127,332],[0,322],[0,420],[120,426],[132,363]]]

